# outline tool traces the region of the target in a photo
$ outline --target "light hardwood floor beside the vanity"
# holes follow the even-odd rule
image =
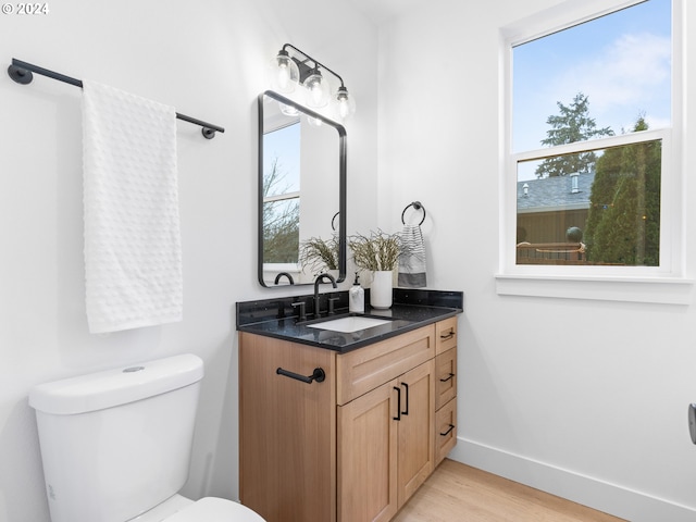
[[[621,522],[446,459],[393,522]]]

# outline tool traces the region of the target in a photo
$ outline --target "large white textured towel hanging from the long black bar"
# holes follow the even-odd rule
[[[176,112],[113,87],[83,84],[89,331],[181,321]]]

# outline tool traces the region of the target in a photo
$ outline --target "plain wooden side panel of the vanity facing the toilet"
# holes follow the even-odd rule
[[[268,522],[336,520],[335,356],[285,340],[240,334],[241,502]],[[311,375],[311,384],[279,375]]]

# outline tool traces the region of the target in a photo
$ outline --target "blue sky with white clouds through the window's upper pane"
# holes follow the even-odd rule
[[[579,45],[579,42],[581,42]],[[649,0],[513,50],[514,152],[539,149],[559,114],[583,92],[597,128],[671,124],[671,0]]]

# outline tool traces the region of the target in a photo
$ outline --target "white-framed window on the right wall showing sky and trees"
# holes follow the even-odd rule
[[[681,4],[566,2],[504,29],[501,276],[683,275]]]

